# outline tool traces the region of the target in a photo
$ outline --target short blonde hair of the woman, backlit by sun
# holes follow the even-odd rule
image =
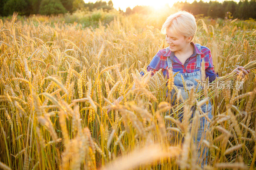
[[[192,41],[196,35],[196,19],[187,11],[179,11],[166,19],[162,26],[161,33],[166,33],[165,28],[169,28],[170,32],[174,35],[183,35],[185,37],[192,36]]]

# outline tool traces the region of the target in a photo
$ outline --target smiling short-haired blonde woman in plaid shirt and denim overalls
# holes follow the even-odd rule
[[[179,72],[174,77],[174,85],[181,90],[181,96],[184,100],[187,99],[187,95],[181,76],[183,76],[185,82],[196,86],[197,81],[195,79],[201,80],[201,63],[203,60],[205,63],[205,75],[209,77],[209,82],[211,83],[216,77],[219,77],[214,71],[211,50],[200,44],[193,43],[196,30],[196,19],[192,14],[186,11],[180,11],[170,15],[161,29],[161,32],[165,34],[165,40],[169,44],[169,47],[160,49],[147,66],[147,71],[152,71],[152,75],[162,68],[163,75],[167,78],[169,78],[168,70],[171,69],[173,75]],[[237,75],[241,71],[243,72],[242,77],[250,72],[250,70],[244,70],[242,66],[233,70]],[[143,72],[140,72],[140,74],[142,76],[144,75]],[[135,84],[133,89],[135,89]],[[174,92],[172,90],[171,96],[173,96]],[[114,103],[118,103],[122,99],[123,96],[120,96]],[[208,105],[204,104],[201,108],[204,113],[208,112],[209,119],[212,119],[211,101],[209,101]],[[182,115],[179,115],[179,118],[182,119]],[[202,141],[205,137],[204,132],[208,127],[209,122],[206,121],[205,117],[201,118],[195,139],[198,152],[197,161],[198,163],[201,162],[201,166],[207,164],[208,148],[203,147]]]

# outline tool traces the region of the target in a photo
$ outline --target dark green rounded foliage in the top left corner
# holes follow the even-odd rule
[[[14,11],[20,15],[29,14],[27,9],[28,3],[25,0],[8,0],[4,4],[3,15],[12,15]]]

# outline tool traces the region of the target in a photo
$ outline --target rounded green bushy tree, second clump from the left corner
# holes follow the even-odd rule
[[[42,15],[65,13],[66,10],[60,0],[42,0],[39,13]]]

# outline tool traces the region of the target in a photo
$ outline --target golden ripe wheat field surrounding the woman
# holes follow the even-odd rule
[[[212,86],[172,106],[165,97],[174,88],[171,76],[168,81],[158,71],[150,77],[145,70],[168,46],[160,29],[170,14],[115,13],[90,27],[68,24],[65,16],[2,18],[0,168],[201,169],[195,130],[188,129],[204,115],[197,110],[190,122],[188,108],[209,97],[213,118],[203,141],[209,147],[204,168],[255,169],[255,20],[197,18],[194,42],[211,49],[223,83],[242,81],[243,89]],[[225,76],[237,66],[251,73]]]

